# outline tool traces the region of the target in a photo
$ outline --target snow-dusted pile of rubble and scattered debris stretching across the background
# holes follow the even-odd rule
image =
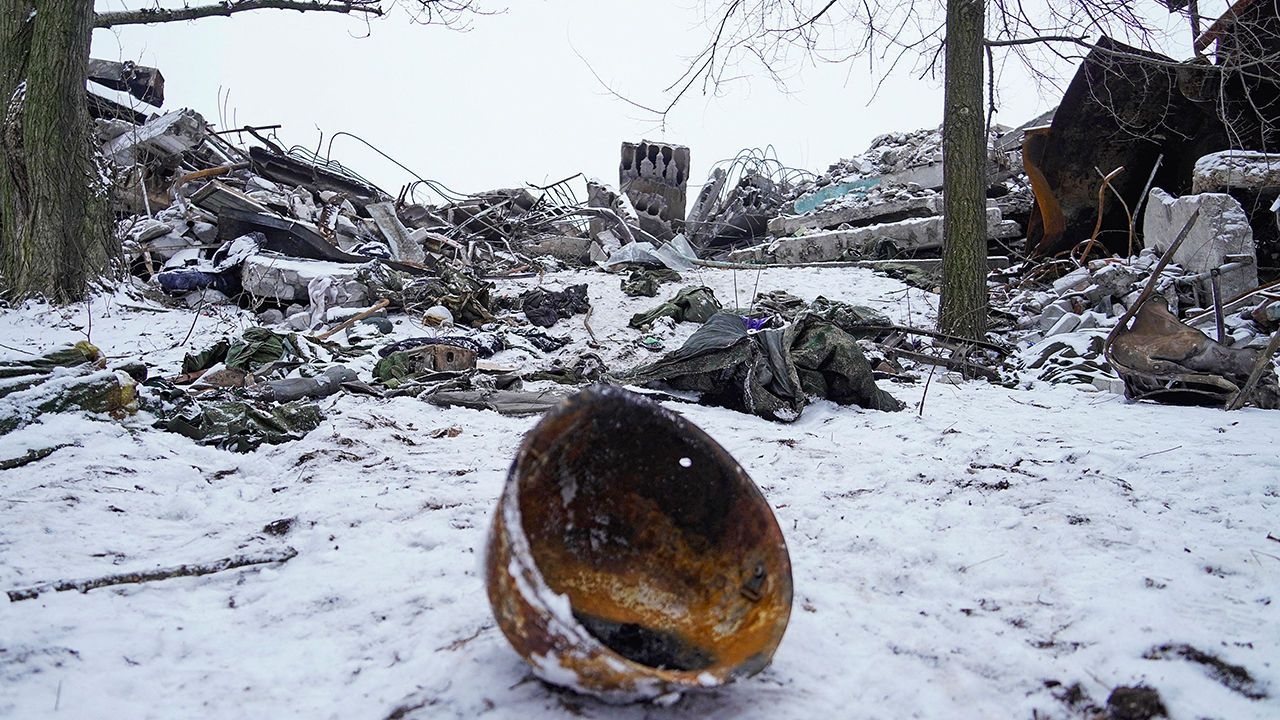
[[[95,82],[143,102],[164,100],[159,70],[96,60],[92,70]],[[1091,105],[1097,94],[1080,83],[1106,85],[1124,101],[1123,83],[1133,79],[1096,76],[1087,60],[1055,113],[991,133],[997,329],[983,342],[781,291],[748,309],[722,306],[705,287],[663,291],[704,266],[832,261],[906,263],[934,287],[927,275],[945,241],[940,128],[881,136],[822,174],[744,151],[714,165],[692,202],[690,150],[652,141],[622,143],[617,186],[575,176],[458,193],[420,178],[389,193],[332,158],[283,147],[273,127],[219,131],[192,110],[148,117],[91,94],[102,155],[116,168],[133,273],[193,307],[250,307],[260,324],[189,356],[175,377],[147,379],[142,400],[165,427],[237,448],[296,437],[317,418],[314,400],[343,389],[509,413],[559,397],[547,386],[526,392],[526,380],[695,391],[704,402],[782,421],[813,396],[897,409],[876,382],[911,382],[934,365],[954,382],[1065,382],[1135,398],[1280,405],[1268,364],[1280,293],[1262,284],[1275,277],[1268,238],[1280,156],[1224,150],[1188,159],[1187,147],[1165,146],[1158,158],[1130,158],[1152,168],[1137,190],[1135,172],[1093,170],[1098,178],[1078,182],[1080,163],[1106,168],[1129,151],[1107,141],[1062,145],[1102,122]],[[1130,200],[1108,204],[1107,191]],[[682,322],[701,329],[655,361],[608,368],[594,352],[604,347],[589,323],[586,286],[497,291],[495,281],[566,265],[618,273],[631,296],[666,295],[632,318],[639,348],[667,351]],[[389,315],[401,313],[431,332],[389,337]],[[590,342],[553,334],[570,318],[581,318]],[[503,350],[527,363],[494,364]],[[96,360],[68,357],[102,372]],[[104,386],[124,398],[113,407],[131,406],[134,375],[146,372]]]

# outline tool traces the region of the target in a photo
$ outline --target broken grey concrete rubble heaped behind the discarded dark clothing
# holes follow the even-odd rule
[[[97,63],[95,73],[108,87],[163,102],[159,70]],[[271,126],[219,131],[193,110],[148,115],[93,97],[102,154],[116,168],[118,231],[133,274],[192,307],[252,307],[264,333],[297,338],[282,340],[292,350],[273,363],[238,365],[242,384],[319,377],[342,352],[380,345],[383,360],[371,382],[338,373],[332,375],[344,380],[326,380],[325,387],[536,411],[558,393],[526,392],[526,380],[577,384],[632,377],[636,368],[607,368],[564,334],[585,332],[588,347],[600,347],[585,286],[502,292],[508,278],[562,268],[616,273],[628,295],[675,299],[710,293],[682,277],[708,266],[849,263],[925,290],[941,284],[941,128],[883,135],[820,173],[744,150],[713,165],[692,195],[695,151],[646,140],[621,143],[616,179],[575,176],[544,187],[474,193],[419,179],[388,192],[333,158],[283,147]],[[1064,101],[1073,101],[1071,95]],[[1062,128],[1079,120],[1076,110],[991,133],[992,332],[986,341],[858,319],[856,309],[826,299],[808,304],[783,291],[760,292],[751,307],[723,307],[722,314],[741,318],[750,333],[774,333],[786,343],[799,342],[786,334],[796,328],[831,325],[824,332],[844,333],[840,348],[850,363],[865,356],[868,382],[914,382],[936,366],[942,382],[1053,382],[1156,400],[1144,388],[1164,380],[1135,370],[1147,368],[1142,357],[1129,352],[1129,364],[1120,366],[1111,359],[1115,347],[1133,340],[1117,336],[1139,325],[1165,328],[1169,337],[1192,338],[1194,352],[1210,361],[1231,357],[1221,387],[1239,389],[1245,359],[1267,348],[1280,329],[1277,263],[1267,246],[1280,213],[1280,201],[1267,195],[1280,186],[1280,156],[1228,150],[1164,158],[1166,169],[1185,172],[1153,173],[1156,182],[1140,195],[1133,191],[1125,208],[1135,217],[1125,220],[1121,243],[1115,231],[1091,236],[1080,229],[1093,229],[1083,220],[1088,213],[1100,214],[1088,206],[1091,195],[1098,195],[1098,178],[1069,196],[1075,224],[1046,225],[1057,222],[1052,213],[1068,208],[1052,206],[1068,195],[1055,184],[1057,176],[1044,173],[1052,168],[1046,143],[1055,152],[1070,150],[1053,142],[1071,137],[1074,131]],[[1110,227],[1114,219],[1097,222]],[[1046,233],[1069,251],[1037,255]],[[1029,243],[1029,236],[1037,242]],[[664,282],[681,284],[664,290]],[[722,305],[713,295],[705,302]],[[402,315],[447,334],[388,345],[383,336]],[[644,356],[672,350],[666,343],[681,322],[707,318],[655,315],[627,332]],[[1143,343],[1130,346],[1152,346],[1146,336]],[[518,348],[525,365],[494,366],[489,357],[503,348]],[[675,356],[681,352],[690,351]],[[1196,365],[1179,378],[1204,370]],[[209,372],[224,374],[216,361],[193,361],[182,379]],[[1147,375],[1134,379],[1134,373]],[[1272,387],[1274,374],[1263,375],[1261,387]],[[723,396],[707,393],[717,395]],[[253,396],[265,397],[271,395]],[[794,411],[768,416],[795,419],[803,398],[788,396],[787,402]]]

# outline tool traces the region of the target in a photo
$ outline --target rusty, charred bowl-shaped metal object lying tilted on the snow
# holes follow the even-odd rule
[[[498,626],[534,673],[614,702],[754,675],[791,616],[759,488],[696,425],[614,387],[525,436],[485,562]]]

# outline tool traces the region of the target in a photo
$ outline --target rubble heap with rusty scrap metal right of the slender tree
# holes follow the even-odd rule
[[[1221,155],[1210,155],[1198,167],[1222,164]],[[1242,159],[1233,164],[1240,168]],[[1023,348],[1019,369],[1130,397],[1158,389],[1181,402],[1226,405],[1252,393],[1254,405],[1280,406],[1270,369],[1280,292],[1275,282],[1258,286],[1252,229],[1239,202],[1220,192],[1175,199],[1152,188],[1144,231],[1146,247],[1129,259],[1028,264],[995,277],[997,311]],[[1134,333],[1152,337],[1115,361],[1115,343]],[[1257,389],[1245,388],[1254,369]],[[1161,378],[1158,388],[1148,387],[1152,377]]]

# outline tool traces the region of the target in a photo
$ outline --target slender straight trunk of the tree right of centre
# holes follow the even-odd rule
[[[983,127],[983,0],[947,0],[942,126],[943,233],[940,329],[987,333],[987,142]]]

